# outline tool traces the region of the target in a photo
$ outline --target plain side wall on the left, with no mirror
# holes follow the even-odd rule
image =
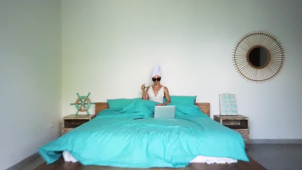
[[[60,32],[60,1],[0,1],[0,169],[60,135]]]

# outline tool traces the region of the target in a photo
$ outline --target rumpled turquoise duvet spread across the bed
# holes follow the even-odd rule
[[[69,151],[83,165],[138,168],[184,167],[198,155],[249,161],[241,135],[198,107],[176,104],[176,119],[153,119],[155,105],[140,100],[104,110],[40,147],[39,154],[47,164]]]

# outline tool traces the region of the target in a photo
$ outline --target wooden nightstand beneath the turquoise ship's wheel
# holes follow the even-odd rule
[[[62,135],[77,128],[81,124],[89,122],[95,115],[69,115],[63,117]]]

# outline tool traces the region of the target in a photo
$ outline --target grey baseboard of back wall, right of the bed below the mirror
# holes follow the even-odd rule
[[[250,144],[302,144],[302,139],[249,139]]]

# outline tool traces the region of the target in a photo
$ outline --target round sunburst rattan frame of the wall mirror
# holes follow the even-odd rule
[[[260,67],[254,66],[249,54],[254,48],[267,52],[267,62]],[[282,43],[272,34],[255,31],[242,36],[236,43],[232,57],[236,71],[251,81],[267,81],[275,77],[283,68],[285,50]]]

